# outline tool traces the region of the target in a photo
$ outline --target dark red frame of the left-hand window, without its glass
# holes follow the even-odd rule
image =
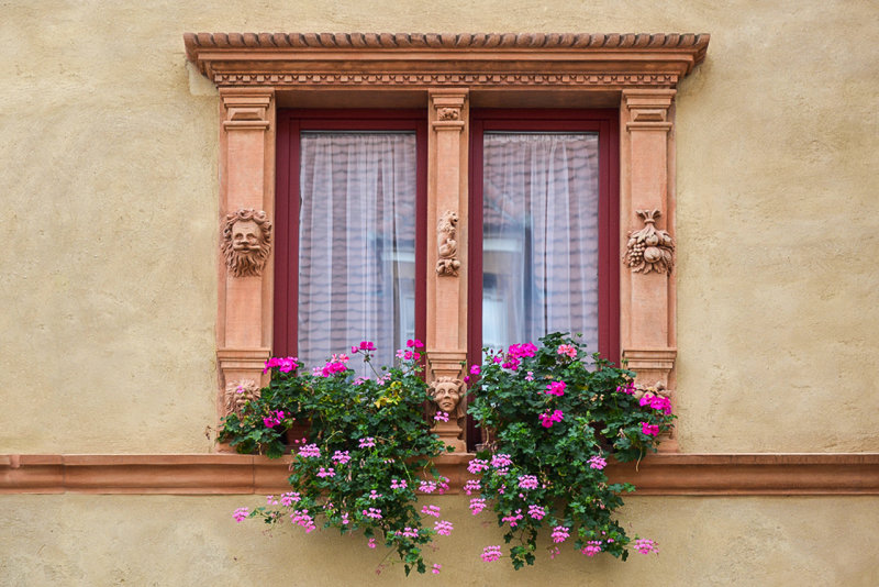
[[[300,133],[302,131],[412,131],[416,144],[415,335],[427,324],[427,121],[423,110],[279,110],[275,178],[275,312],[272,354],[298,354]],[[352,344],[357,341],[352,341]],[[340,351],[344,351],[341,348]]]

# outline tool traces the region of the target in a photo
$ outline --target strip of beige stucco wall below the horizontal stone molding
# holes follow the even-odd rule
[[[466,501],[433,498],[455,520],[437,540],[441,574],[405,578],[400,566],[380,575],[387,554],[363,536],[305,533],[287,525],[236,524],[232,510],[258,497],[16,496],[5,499],[0,530],[0,584],[37,585],[655,585],[874,587],[879,560],[869,556],[879,498],[631,498],[625,517],[659,540],[656,555],[625,563],[567,549],[555,560],[514,572],[509,561],[483,563],[499,543],[488,512]],[[457,507],[456,507],[457,505]],[[14,543],[13,543],[14,538]],[[547,546],[544,544],[543,546]],[[867,556],[865,556],[867,554]]]

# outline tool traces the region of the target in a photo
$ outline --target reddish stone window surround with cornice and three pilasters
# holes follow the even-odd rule
[[[646,218],[674,241],[674,98],[677,82],[704,59],[708,34],[187,33],[185,44],[188,59],[220,90],[221,222],[238,209],[274,218],[279,106],[424,107],[427,226],[446,211],[458,213],[458,261],[467,267],[470,106],[616,107],[620,250]],[[427,255],[427,267],[435,266],[436,248]],[[219,256],[219,417],[227,389],[264,378],[272,258],[259,275],[237,277]],[[624,266],[620,281],[622,356],[638,383],[670,389],[674,405],[674,267]],[[467,272],[429,272],[426,291],[427,313],[436,317],[426,331],[429,378],[457,377],[467,352]],[[664,446],[677,450],[674,438]]]

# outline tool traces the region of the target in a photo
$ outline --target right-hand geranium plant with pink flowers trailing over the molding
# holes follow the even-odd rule
[[[628,549],[656,551],[649,539],[632,539],[615,518],[630,484],[612,484],[608,461],[636,461],[655,451],[674,416],[667,397],[633,384],[634,373],[588,355],[576,339],[549,334],[505,352],[488,351],[469,412],[489,433],[488,450],[468,470],[470,509],[490,503],[504,530],[515,568],[533,564],[537,534],[592,556],[607,552],[625,560]],[[485,561],[502,556],[486,547]]]

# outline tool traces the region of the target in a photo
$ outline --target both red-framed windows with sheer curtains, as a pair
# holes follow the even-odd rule
[[[471,111],[471,361],[553,331],[619,357],[616,119]],[[279,112],[275,354],[424,337],[426,153],[423,110]]]

